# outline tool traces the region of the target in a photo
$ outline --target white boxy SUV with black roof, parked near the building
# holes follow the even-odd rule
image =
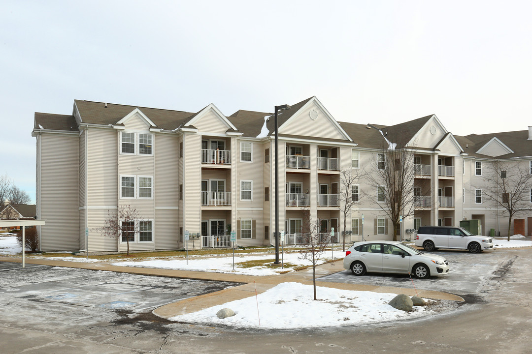
[[[473,235],[462,227],[422,226],[415,236],[414,245],[431,252],[438,248],[469,249],[471,253],[493,248],[491,237]]]

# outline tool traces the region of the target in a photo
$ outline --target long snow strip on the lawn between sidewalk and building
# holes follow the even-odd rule
[[[326,251],[322,256],[319,264],[325,262],[326,259],[334,258],[344,258],[345,252],[343,251]],[[297,265],[311,265],[312,263],[305,260],[300,260],[301,255],[299,253],[286,253],[282,254],[284,258],[284,263],[292,263]],[[176,269],[176,270],[186,270],[186,271],[202,271],[202,272],[214,272],[214,273],[234,273],[242,275],[276,275],[279,274],[279,271],[288,272],[294,271],[293,268],[284,267],[284,269],[269,269],[264,266],[256,266],[250,268],[243,268],[239,265],[241,262],[248,261],[257,261],[257,260],[275,260],[275,255],[235,255],[235,269],[233,270],[232,256],[226,257],[212,257],[212,258],[193,258],[188,260],[178,259],[178,260],[152,260],[152,261],[141,261],[141,262],[118,262],[113,263],[112,265],[118,266],[129,266],[129,267],[146,267],[146,268],[161,268],[161,269]],[[279,255],[279,260],[281,260],[281,255]],[[342,262],[341,259],[339,262]]]

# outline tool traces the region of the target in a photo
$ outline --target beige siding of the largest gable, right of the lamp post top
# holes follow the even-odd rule
[[[318,118],[312,120],[309,116],[310,111],[318,112]],[[292,117],[294,118],[294,117]],[[290,119],[292,119],[290,118]],[[331,118],[332,119],[332,118]],[[331,122],[328,116],[316,105],[311,103],[306,109],[298,114],[288,125],[279,129],[279,134],[301,135],[304,128],[306,136],[325,137],[328,139],[345,139],[337,126]]]

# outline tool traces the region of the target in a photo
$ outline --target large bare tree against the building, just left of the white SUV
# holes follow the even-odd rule
[[[400,147],[397,147],[400,146]],[[375,173],[368,174],[370,185],[376,193],[368,194],[392,221],[394,241],[400,229],[400,217],[413,216],[414,196],[414,151],[408,146],[389,143],[376,156]]]

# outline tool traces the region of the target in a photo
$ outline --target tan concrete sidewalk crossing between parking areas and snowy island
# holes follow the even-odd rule
[[[0,257],[0,262],[18,262],[22,263],[21,257]],[[170,278],[184,278],[184,279],[198,279],[198,280],[213,280],[213,281],[228,281],[242,283],[238,286],[220,290],[217,292],[188,298],[175,303],[161,306],[153,310],[153,313],[163,318],[169,318],[181,314],[196,312],[201,309],[209,308],[216,305],[222,305],[230,301],[243,299],[254,296],[256,293],[262,293],[276,285],[284,282],[298,282],[302,284],[312,285],[312,268],[305,269],[298,272],[290,272],[279,275],[269,275],[267,277],[257,277],[253,275],[240,274],[226,274],[226,273],[212,273],[212,272],[196,272],[196,271],[182,271],[156,268],[140,268],[140,267],[125,267],[115,266],[109,263],[85,263],[85,262],[70,262],[46,260],[41,258],[26,258],[28,264],[42,264],[49,266],[70,267],[80,269],[91,269],[99,271],[112,271],[139,275],[152,275],[156,277],[170,277]],[[342,261],[335,263],[322,264],[316,267],[316,278],[325,277],[325,275],[344,271]],[[362,284],[347,284],[320,281],[320,287],[329,287],[344,290],[359,290],[359,291],[373,291],[373,292],[389,292],[389,293],[404,293],[408,296],[416,295],[413,288],[398,288],[398,287],[381,287],[377,285],[362,285]],[[442,299],[463,301],[460,296],[441,291],[418,290],[417,295],[423,298]]]

